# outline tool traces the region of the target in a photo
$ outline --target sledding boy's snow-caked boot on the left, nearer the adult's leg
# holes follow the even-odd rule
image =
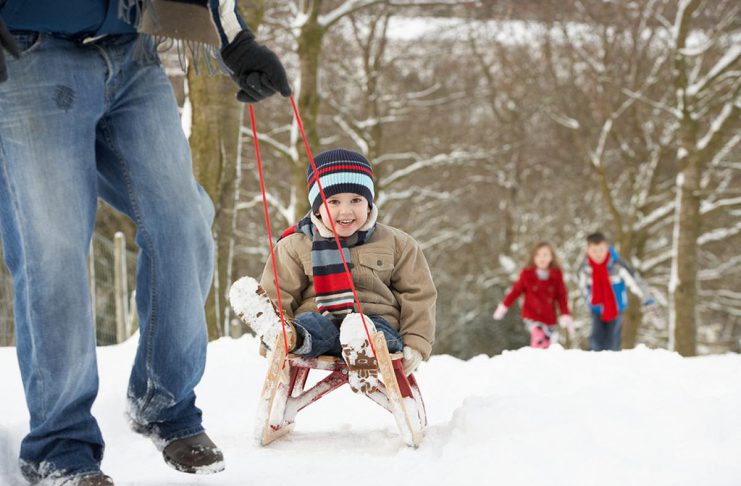
[[[239,318],[261,337],[269,349],[273,348],[278,336],[283,336],[278,308],[254,278],[242,277],[234,282],[229,290],[229,302]],[[290,352],[296,347],[296,328],[290,319],[285,321]]]

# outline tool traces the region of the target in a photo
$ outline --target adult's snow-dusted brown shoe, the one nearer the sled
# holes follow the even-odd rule
[[[224,455],[205,432],[170,442],[162,457],[178,471],[190,474],[212,474],[225,467]]]

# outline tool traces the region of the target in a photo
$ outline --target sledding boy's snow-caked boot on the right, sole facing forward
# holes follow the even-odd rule
[[[365,316],[368,333],[376,333],[376,326]],[[342,357],[347,363],[347,380],[354,392],[373,393],[378,388],[378,360],[365,333],[360,314],[350,314],[340,325]]]

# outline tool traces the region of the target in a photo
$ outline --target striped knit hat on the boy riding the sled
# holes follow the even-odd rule
[[[360,194],[373,207],[373,168],[365,157],[356,152],[344,149],[334,149],[322,152],[314,157],[316,170],[319,172],[319,181],[324,189],[324,195],[329,199],[334,194],[350,192]],[[309,182],[309,204],[311,211],[316,212],[322,205],[322,195],[319,194],[319,185],[316,175],[309,164],[307,173]]]

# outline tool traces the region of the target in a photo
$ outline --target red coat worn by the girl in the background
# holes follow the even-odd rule
[[[505,307],[512,307],[522,293],[525,294],[525,302],[522,304],[523,319],[555,325],[556,304],[561,314],[570,314],[568,291],[563,283],[563,274],[557,268],[549,270],[548,280],[540,280],[533,267],[524,269],[504,297],[502,304]]]

